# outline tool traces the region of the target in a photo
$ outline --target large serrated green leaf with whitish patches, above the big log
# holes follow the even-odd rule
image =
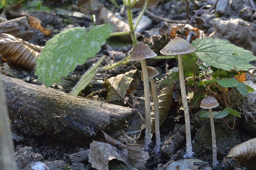
[[[109,24],[93,26],[86,32],[84,27],[63,30],[46,42],[41,54],[36,59],[38,80],[49,87],[59,82],[77,65],[85,63],[100,51],[113,27]]]

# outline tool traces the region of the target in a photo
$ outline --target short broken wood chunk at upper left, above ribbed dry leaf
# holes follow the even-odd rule
[[[10,34],[25,41],[30,40],[34,35],[26,16],[0,23],[0,33]]]

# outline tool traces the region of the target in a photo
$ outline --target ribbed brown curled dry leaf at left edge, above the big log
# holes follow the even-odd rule
[[[42,47],[30,44],[12,35],[0,34],[0,54],[2,59],[34,70],[36,58]]]

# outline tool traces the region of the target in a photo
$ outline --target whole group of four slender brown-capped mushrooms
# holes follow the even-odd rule
[[[190,115],[189,115],[189,109],[187,105],[187,94],[185,89],[185,80],[184,80],[184,72],[183,72],[183,60],[182,55],[183,54],[189,54],[195,51],[196,49],[188,43],[186,40],[180,37],[175,37],[173,40],[171,40],[163,49],[161,49],[160,53],[165,56],[176,56],[178,55],[178,67],[179,67],[179,79],[180,79],[180,91],[181,91],[181,97],[183,102],[183,108],[184,108],[184,115],[185,115],[185,127],[186,127],[186,156],[192,157],[192,143],[191,143],[191,132],[190,132]],[[144,83],[144,93],[145,93],[145,149],[148,149],[149,143],[151,142],[151,121],[150,121],[150,92],[149,92],[149,81],[151,83],[152,87],[152,94],[153,94],[153,101],[154,101],[154,121],[155,121],[155,134],[156,134],[156,145],[155,145],[155,151],[160,151],[160,131],[159,131],[159,103],[158,103],[158,96],[156,93],[156,87],[154,84],[154,79],[156,75],[158,75],[158,71],[153,67],[147,67],[146,64],[146,58],[152,58],[155,57],[156,53],[150,49],[147,44],[144,43],[138,43],[135,45],[129,61],[140,61],[141,68],[142,68],[142,75],[141,79]],[[217,156],[216,156],[216,140],[215,140],[215,131],[214,131],[214,124],[213,124],[213,114],[211,112],[211,106],[209,105],[209,100],[214,100],[215,98],[211,96],[207,96],[204,100],[201,102],[202,108],[209,109],[210,112],[210,119],[211,119],[211,129],[212,129],[212,135],[214,134],[214,137],[212,137],[212,142],[215,144],[215,147],[213,147],[213,165],[216,166],[217,164]],[[215,99],[216,100],[216,99]],[[216,100],[217,101],[217,100]],[[218,102],[217,102],[218,103]],[[217,107],[217,104],[214,104],[214,107]],[[211,108],[210,108],[211,107]]]

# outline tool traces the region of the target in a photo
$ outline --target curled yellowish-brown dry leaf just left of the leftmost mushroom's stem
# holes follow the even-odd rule
[[[137,88],[137,86],[139,86],[139,76],[140,75],[138,70],[131,70],[129,72],[126,72],[125,74],[120,74],[116,77],[111,77],[107,79],[103,83],[103,86],[107,88],[106,102],[122,105],[123,99],[116,93],[116,91],[123,98],[125,98],[126,94],[129,94],[131,91]]]

